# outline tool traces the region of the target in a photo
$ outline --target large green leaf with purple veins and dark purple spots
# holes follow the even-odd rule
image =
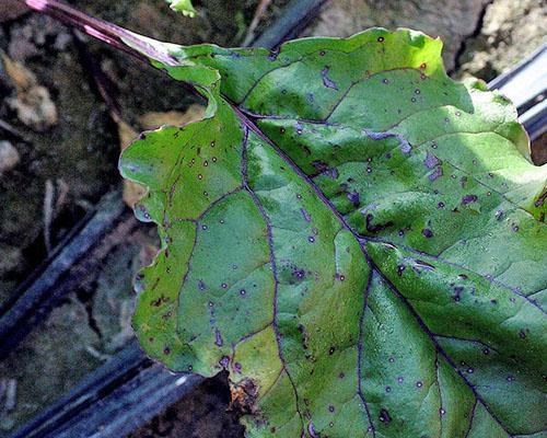
[[[174,370],[228,369],[248,437],[545,436],[547,166],[441,46],[158,45],[209,108],[123,154],[163,241],[133,325]]]

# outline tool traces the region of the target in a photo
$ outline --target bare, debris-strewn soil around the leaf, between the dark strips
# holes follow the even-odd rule
[[[154,38],[237,45],[258,0],[195,1],[199,14],[194,20],[175,15],[163,0],[72,3]],[[286,3],[272,1],[257,32]],[[372,25],[440,35],[453,76],[490,80],[546,42],[547,9],[540,0],[450,0],[443,8],[434,0],[331,0],[306,34],[347,36]],[[0,168],[1,310],[50,246],[102,195],[120,186],[116,162],[121,140],[113,110],[121,108],[121,118],[138,130],[142,115],[184,112],[195,101],[151,67],[91,38],[77,44],[73,32],[34,13],[10,9],[8,15],[0,8],[0,50],[9,58],[0,57],[0,157],[9,157],[2,159],[9,165]],[[32,92],[22,91],[9,74],[10,61],[20,62],[35,78]],[[101,95],[89,62],[105,73],[109,101]],[[22,93],[39,96],[33,101],[34,112],[25,113],[37,114],[37,122],[25,118],[13,104]],[[55,118],[48,104],[55,107]],[[535,157],[547,161],[545,136],[536,142]],[[66,297],[9,357],[0,359],[0,387],[15,385],[14,400],[0,395],[0,437],[132,338],[131,278],[155,245],[154,230],[142,226],[110,252],[92,285]],[[224,376],[206,381],[131,437],[242,437],[236,415],[228,407]]]

